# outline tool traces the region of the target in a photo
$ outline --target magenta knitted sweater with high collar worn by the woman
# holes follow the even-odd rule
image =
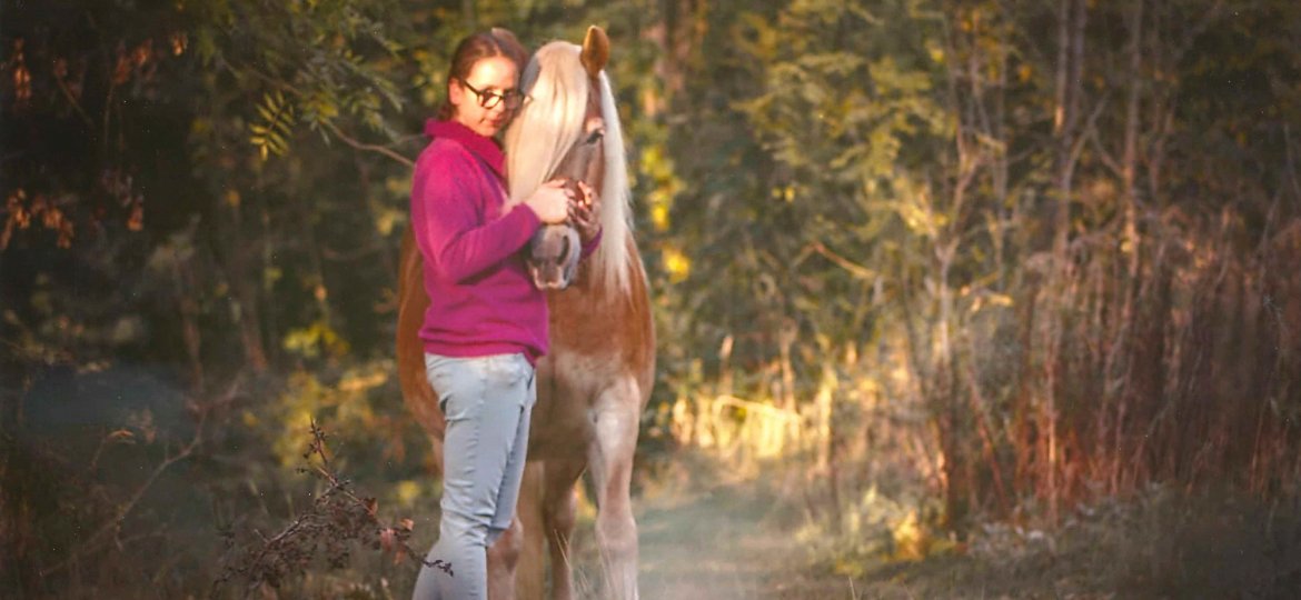
[[[425,352],[488,356],[546,353],[546,296],[528,275],[524,255],[541,226],[524,205],[506,201],[501,148],[454,121],[429,119],[432,140],[411,182],[411,225],[424,257],[429,309]]]

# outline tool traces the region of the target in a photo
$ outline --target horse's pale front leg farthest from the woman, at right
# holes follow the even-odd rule
[[[637,597],[637,523],[628,487],[637,445],[640,390],[631,377],[600,395],[593,406],[596,436],[588,448],[597,494],[596,543],[606,575],[606,597]]]

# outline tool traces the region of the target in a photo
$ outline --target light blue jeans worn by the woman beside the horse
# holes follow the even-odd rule
[[[488,547],[510,527],[537,397],[523,355],[424,355],[425,375],[448,419],[442,523],[415,582],[415,600],[488,597]]]

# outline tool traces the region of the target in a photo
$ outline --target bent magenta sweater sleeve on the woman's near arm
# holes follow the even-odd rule
[[[427,165],[418,190],[432,261],[457,283],[474,278],[522,248],[541,223],[524,205],[483,222],[476,200],[500,194],[481,188],[477,165],[461,152],[444,152]]]

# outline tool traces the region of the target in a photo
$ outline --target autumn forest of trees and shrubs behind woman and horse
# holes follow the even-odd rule
[[[20,597],[410,584],[368,558],[438,494],[393,377],[409,161],[461,36],[589,23],[660,339],[639,491],[768,475],[851,578],[1228,503],[1207,535],[1272,570],[1218,584],[1301,588],[1298,3],[0,6]],[[1170,564],[1129,583],[1205,583]]]

